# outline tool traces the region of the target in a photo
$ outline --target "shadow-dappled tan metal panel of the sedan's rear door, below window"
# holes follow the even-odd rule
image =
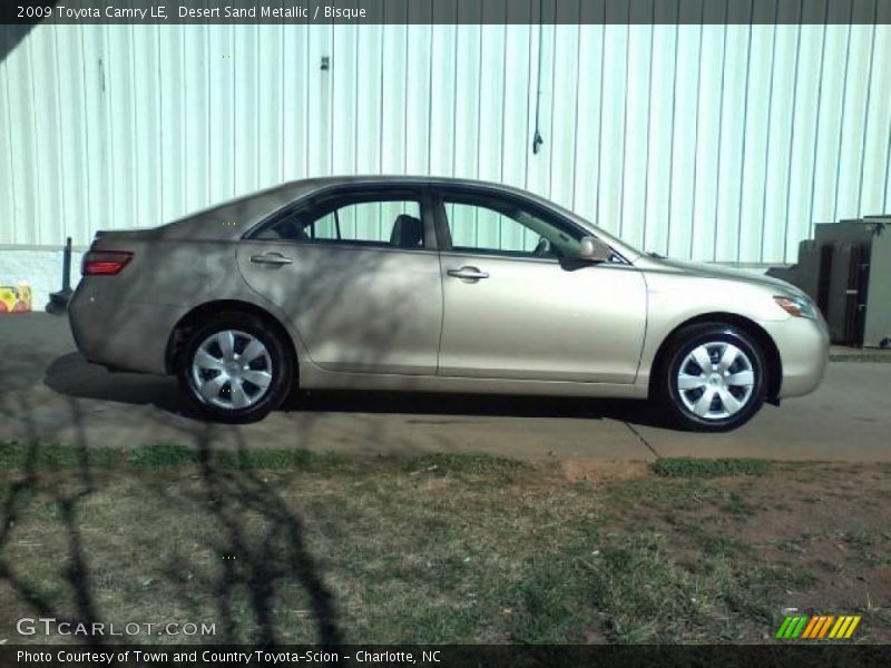
[[[252,258],[275,254],[290,264]],[[244,240],[238,269],[326,371],[435,374],[442,284],[435,250]]]

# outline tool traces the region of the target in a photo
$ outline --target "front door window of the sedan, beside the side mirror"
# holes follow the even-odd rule
[[[576,230],[508,200],[446,199],[452,250],[508,257],[565,257],[578,253]]]

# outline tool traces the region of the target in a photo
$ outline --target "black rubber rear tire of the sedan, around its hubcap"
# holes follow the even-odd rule
[[[213,393],[214,396],[212,399],[203,395],[196,386],[196,374],[198,374],[198,377],[215,380],[215,376],[212,375],[214,373],[213,371],[209,372],[207,376],[203,376],[202,374],[204,372],[198,372],[193,369],[198,348],[203,343],[206,343],[208,338],[223,332],[236,333],[233,337],[236,358],[241,353],[245,352],[247,344],[249,344],[249,337],[258,341],[265,347],[264,352],[267,353],[263,355],[262,358],[257,357],[255,362],[246,362],[246,364],[251,365],[251,369],[248,370],[245,367],[243,373],[246,371],[267,371],[272,380],[265,389],[252,384],[247,377],[245,377],[244,381],[239,381],[238,384],[244,387],[245,396],[248,397],[247,401],[252,401],[249,405],[244,407],[233,405],[231,403],[232,400],[228,402],[228,405],[225,405],[227,403],[225,384],[219,392]],[[245,336],[242,336],[242,334]],[[213,355],[214,348],[205,350],[210,350]],[[221,354],[221,357],[222,356]],[[277,330],[271,327],[268,323],[261,317],[239,312],[221,313],[193,330],[188,334],[183,350],[176,360],[176,373],[179,383],[198,412],[212,420],[235,424],[256,422],[265,418],[270,411],[277,409],[291,391],[294,372],[294,363],[290,354],[290,348]],[[242,385],[242,383],[244,384]],[[228,384],[231,387],[232,383]],[[231,393],[232,390],[228,392]]]

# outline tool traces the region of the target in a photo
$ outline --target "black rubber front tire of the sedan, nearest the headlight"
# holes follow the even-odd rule
[[[728,369],[714,365],[716,354],[721,356],[727,351],[727,347],[722,347],[727,344],[735,346],[742,355]],[[696,373],[699,365],[691,356],[694,351],[703,350],[711,353],[709,362],[713,367],[701,370],[699,375]],[[702,389],[681,390],[682,365],[684,380],[697,384],[701,382],[699,377],[708,379]],[[748,386],[727,382],[728,379],[743,377],[747,382],[747,375],[738,375],[747,371],[752,372],[751,391],[747,390]],[[728,324],[702,323],[684,327],[672,336],[655,375],[654,395],[668,420],[682,429],[701,432],[731,431],[748,422],[764,405],[768,386],[767,374],[764,352],[750,334]],[[731,396],[727,397],[727,394]],[[699,413],[705,410],[706,413],[699,414],[693,409],[698,409]]]

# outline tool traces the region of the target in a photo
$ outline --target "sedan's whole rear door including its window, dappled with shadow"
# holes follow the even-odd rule
[[[434,374],[442,281],[420,189],[347,189],[239,242],[248,285],[287,314],[329,371]]]

